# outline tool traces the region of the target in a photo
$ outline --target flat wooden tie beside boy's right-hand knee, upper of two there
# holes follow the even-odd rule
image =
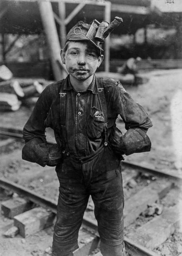
[[[130,197],[124,203],[124,226],[127,227],[147,208],[167,193],[173,184],[170,181],[152,182],[147,187]],[[165,192],[165,193],[164,193]]]

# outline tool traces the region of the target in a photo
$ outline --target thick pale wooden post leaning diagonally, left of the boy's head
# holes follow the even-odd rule
[[[60,43],[58,38],[58,33],[56,30],[56,24],[54,20],[54,14],[52,11],[52,5],[50,2],[47,1],[38,1],[40,10],[40,16],[43,23],[44,31],[46,33],[48,46],[50,49],[51,54],[51,63],[52,63],[52,69],[54,73],[54,78],[56,80],[63,79],[63,72],[60,70],[57,60],[60,59]],[[66,71],[66,68],[61,62],[62,68]]]

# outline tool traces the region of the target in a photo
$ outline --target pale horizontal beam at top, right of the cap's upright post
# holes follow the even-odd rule
[[[150,12],[150,9],[144,6],[138,5],[127,5],[127,4],[112,4],[111,5],[112,12],[123,12],[123,13],[131,13],[131,14],[141,14],[147,15]]]

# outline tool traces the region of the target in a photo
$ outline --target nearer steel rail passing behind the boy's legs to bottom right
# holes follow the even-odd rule
[[[0,187],[4,189],[10,189],[17,194],[24,196],[29,201],[36,203],[39,206],[47,208],[48,210],[56,213],[57,211],[57,203],[53,200],[50,200],[47,197],[40,196],[31,190],[22,187],[21,185],[16,184],[15,182],[11,182],[5,178],[0,178]],[[83,225],[94,229],[95,235],[99,237],[97,231],[97,223],[96,221],[92,221],[88,217],[83,217]],[[156,253],[150,251],[149,249],[145,248],[142,245],[136,244],[135,242],[131,241],[127,237],[124,238],[124,242],[126,245],[126,250],[133,256],[157,256]]]

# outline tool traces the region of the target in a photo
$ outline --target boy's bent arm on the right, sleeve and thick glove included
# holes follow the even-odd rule
[[[110,139],[112,147],[119,154],[126,155],[150,151],[151,142],[146,132],[152,123],[148,114],[134,102],[119,82],[116,85],[116,93],[112,94],[115,95],[113,108],[122,117],[127,131],[122,135],[119,129],[113,129]]]

